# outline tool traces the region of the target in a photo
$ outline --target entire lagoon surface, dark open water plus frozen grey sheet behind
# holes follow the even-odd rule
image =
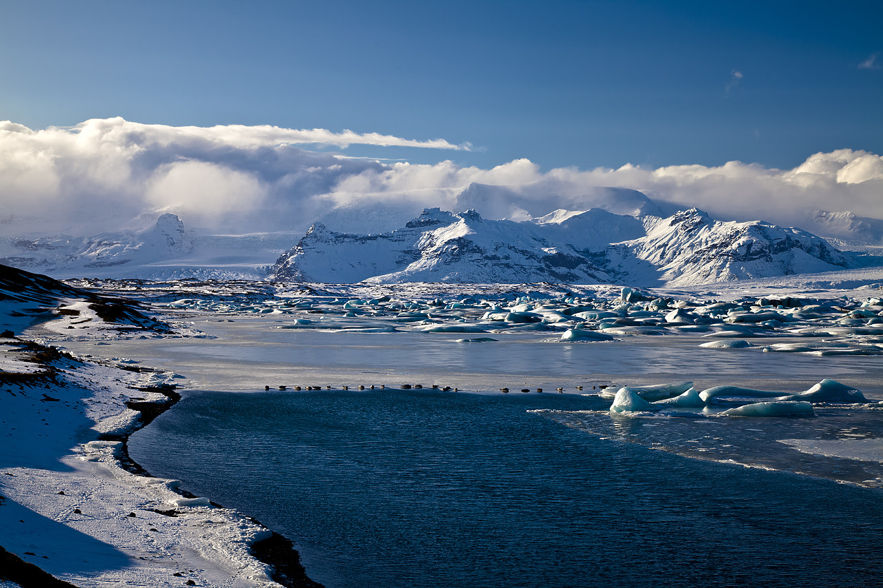
[[[115,343],[201,388],[135,433],[130,452],[282,532],[328,588],[879,585],[883,494],[833,481],[872,482],[879,463],[780,441],[873,440],[883,411],[613,418],[598,396],[548,393],[660,379],[798,392],[834,377],[877,397],[867,358],[697,350],[690,337],[456,343],[270,325]],[[421,376],[472,392],[394,389]],[[496,391],[522,384],[547,392]]]

